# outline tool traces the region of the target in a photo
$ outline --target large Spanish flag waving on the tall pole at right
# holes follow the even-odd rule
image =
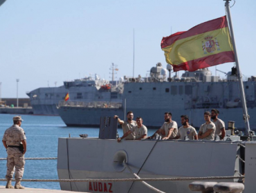
[[[163,37],[161,48],[174,72],[194,71],[235,61],[226,16]]]

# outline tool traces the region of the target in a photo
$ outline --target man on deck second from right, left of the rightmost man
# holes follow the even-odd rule
[[[205,123],[200,126],[199,139],[214,140],[215,125],[210,121],[210,112],[204,112]]]

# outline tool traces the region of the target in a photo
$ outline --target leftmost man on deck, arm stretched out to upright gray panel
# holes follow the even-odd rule
[[[123,134],[125,134],[126,132],[131,130],[131,128],[133,128],[136,125],[136,121],[132,120],[132,119],[134,119],[134,113],[131,112],[131,111],[127,112],[127,121],[122,121],[121,119],[118,118],[117,115],[113,116],[113,118],[115,118],[115,119],[117,118],[118,119],[118,123],[120,125],[122,125],[122,132],[123,132]],[[133,140],[134,138],[135,138],[135,134],[131,133],[125,139]]]

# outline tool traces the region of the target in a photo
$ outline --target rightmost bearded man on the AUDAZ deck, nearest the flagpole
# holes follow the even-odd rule
[[[211,118],[216,127],[215,136],[219,136],[219,139],[223,140],[226,135],[225,123],[221,119],[218,119],[218,116],[219,110],[212,109]]]

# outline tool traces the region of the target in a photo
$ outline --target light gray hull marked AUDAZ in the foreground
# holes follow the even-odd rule
[[[122,141],[60,138],[57,172],[60,179],[133,179],[117,154],[141,178],[235,176],[246,173],[246,191],[254,192],[255,142],[246,142],[246,163],[237,154],[243,147],[226,141]],[[165,153],[163,153],[165,152]],[[239,173],[238,173],[239,172]],[[250,179],[250,177],[252,179]],[[247,179],[248,178],[248,179]],[[221,181],[221,180],[214,180]],[[225,180],[238,181],[237,179]],[[192,181],[148,181],[164,192],[190,192]],[[60,183],[62,190],[76,192],[154,192],[140,182],[102,181]]]

